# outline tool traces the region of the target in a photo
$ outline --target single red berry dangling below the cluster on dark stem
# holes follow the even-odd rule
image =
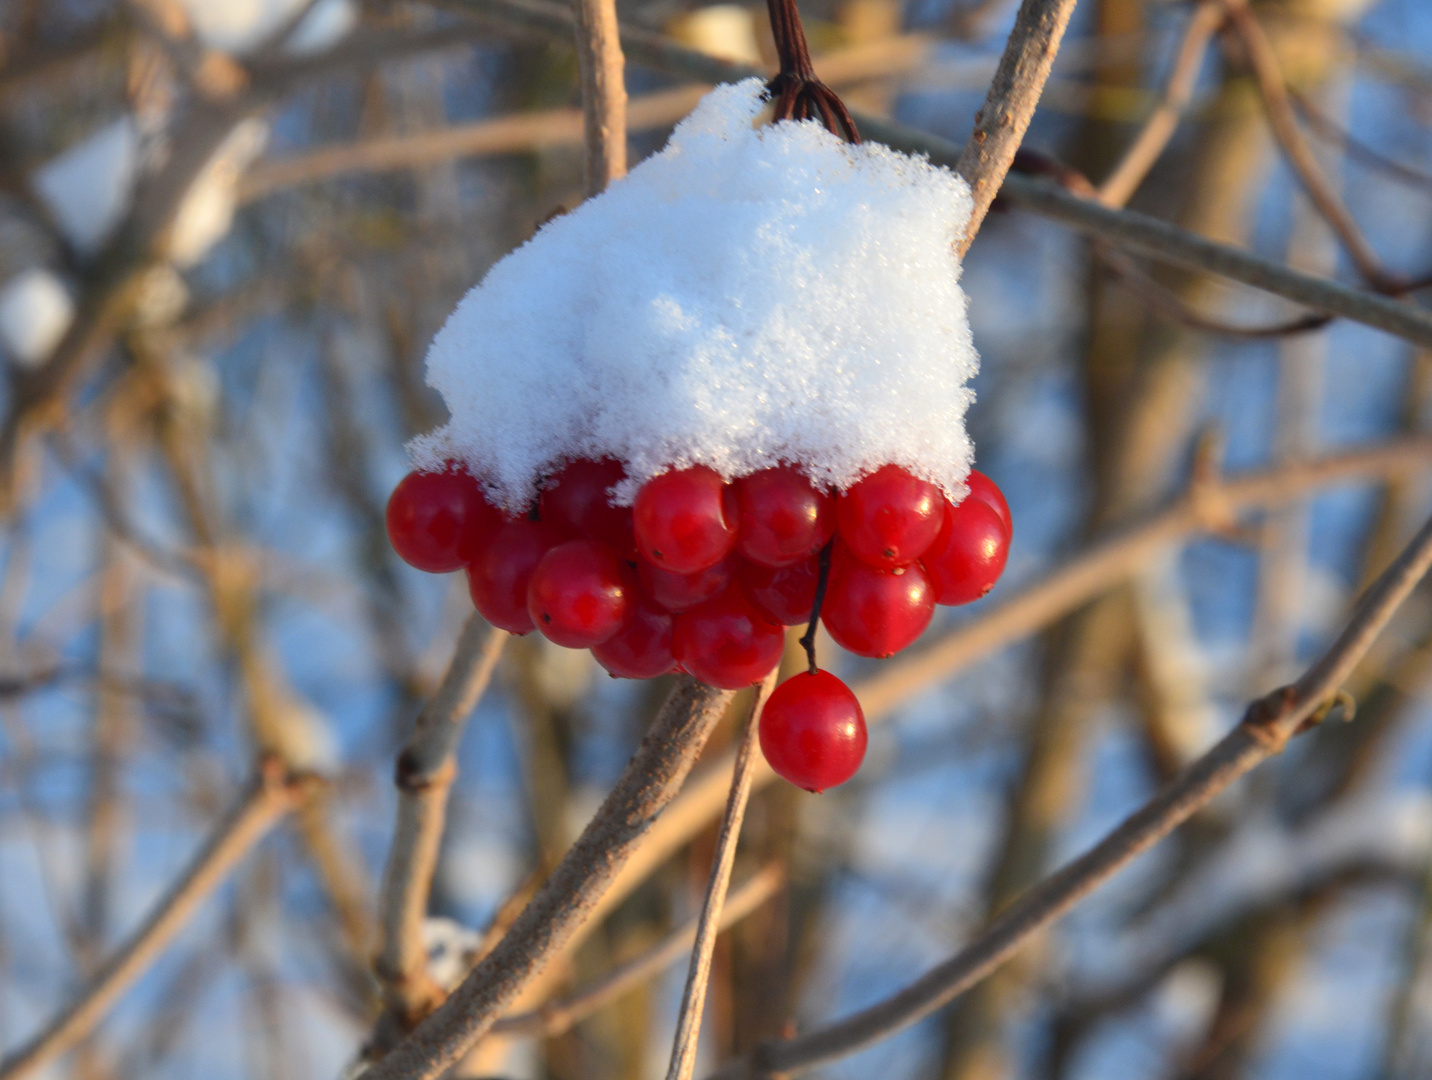
[[[829,672],[792,675],[760,712],[760,752],[798,788],[845,784],[865,758],[865,713]]]

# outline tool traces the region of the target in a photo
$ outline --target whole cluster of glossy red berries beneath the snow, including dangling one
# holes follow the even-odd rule
[[[937,603],[990,592],[1010,549],[1010,507],[981,473],[958,504],[898,466],[839,496],[785,466],[730,484],[695,466],[617,507],[609,491],[623,478],[619,461],[573,461],[511,517],[458,467],[410,473],[388,500],[388,537],[420,570],[465,567],[494,626],[591,649],[616,676],[684,670],[726,689],[760,682],[783,627],[813,614],[849,652],[891,656]],[[812,663],[766,703],[760,742],[776,772],[819,791],[859,766],[865,720]]]

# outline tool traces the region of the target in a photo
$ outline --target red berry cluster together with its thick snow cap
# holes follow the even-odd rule
[[[450,423],[415,440],[388,533],[467,569],[483,616],[591,649],[611,675],[760,682],[819,617],[861,656],[982,596],[1010,514],[969,470],[954,173],[713,90],[664,150],[546,225],[428,352]],[[865,752],[815,667],[760,719],[819,791]]]

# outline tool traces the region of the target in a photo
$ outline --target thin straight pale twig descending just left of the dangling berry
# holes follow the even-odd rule
[[[686,990],[682,991],[682,1008],[676,1018],[676,1036],[672,1040],[672,1063],[666,1080],[690,1080],[696,1069],[696,1043],[702,1033],[702,1013],[706,1008],[706,984],[712,974],[712,951],[716,948],[716,932],[720,922],[722,904],[726,902],[726,887],[730,884],[730,868],[736,861],[736,842],[740,839],[740,824],[746,818],[746,801],[750,798],[750,781],[760,755],[756,751],[756,732],[760,726],[760,710],[770,692],[776,689],[779,667],[760,683],[750,703],[746,731],[736,748],[736,763],[730,775],[730,795],[726,796],[726,815],[716,836],[716,854],[712,858],[712,875],[706,884],[706,898],[702,901],[702,917],[696,930],[696,945],[692,948],[692,964],[686,973]]]

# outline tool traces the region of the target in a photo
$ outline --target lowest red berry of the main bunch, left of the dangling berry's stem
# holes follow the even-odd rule
[[[739,589],[676,616],[672,652],[690,675],[723,690],[766,678],[780,663],[786,632],[752,607]]]

